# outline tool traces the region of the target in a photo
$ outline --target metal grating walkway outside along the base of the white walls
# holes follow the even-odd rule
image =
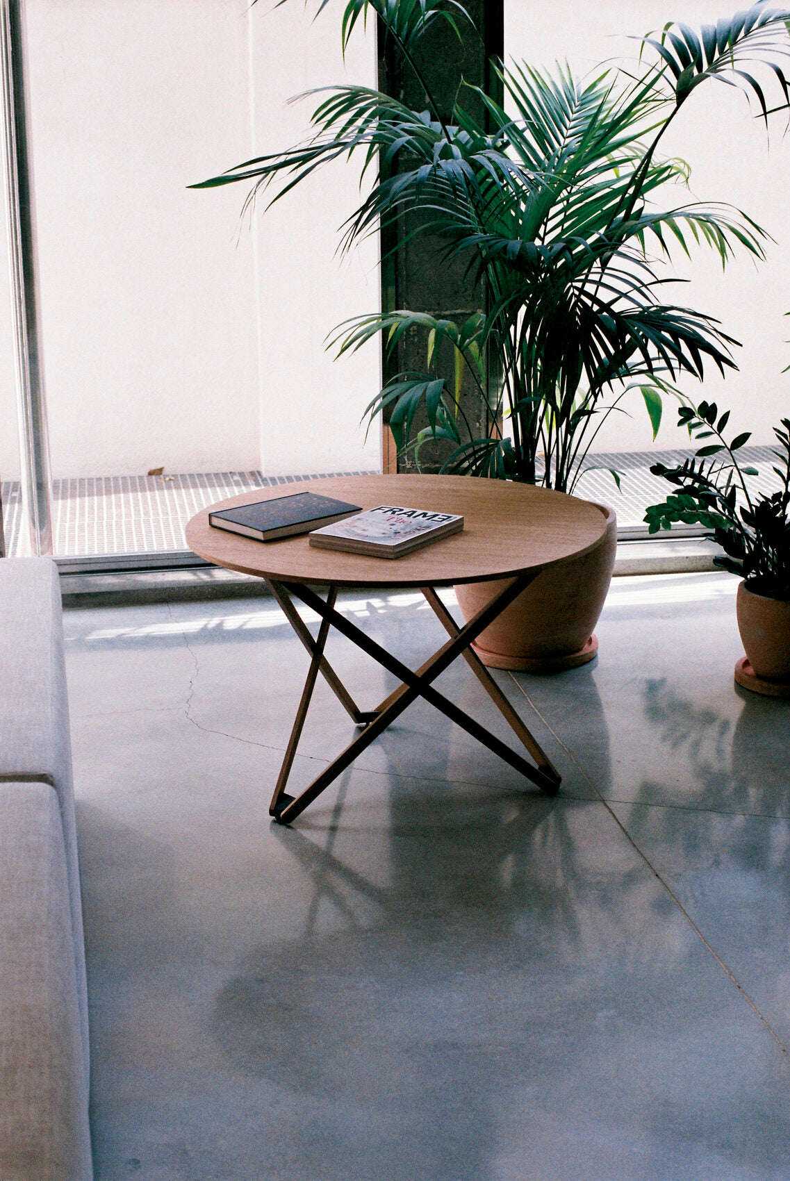
[[[670,485],[649,472],[651,464],[683,461],[691,451],[640,451],[590,456],[600,469],[620,472],[619,492],[606,470],[588,471],[579,482],[576,495],[611,504],[618,514],[620,530],[628,536],[644,533],[642,518],[648,504],[664,500]],[[751,478],[755,491],[777,487],[771,471],[770,446],[744,448],[744,461],[759,469]],[[325,472],[324,476],[357,476],[370,472]],[[56,554],[92,556],[117,554],[156,554],[187,550],[184,526],[208,504],[235,496],[248,489],[272,488],[318,479],[305,476],[262,476],[260,471],[222,471],[179,476],[104,476],[53,482]],[[20,488],[2,484],[2,508],[6,547],[17,553],[21,523]]]

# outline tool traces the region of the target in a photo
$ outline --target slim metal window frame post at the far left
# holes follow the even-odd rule
[[[38,257],[33,175],[27,138],[22,6],[24,0],[0,0],[0,57],[22,514],[30,539],[28,552],[38,555],[52,553],[52,481],[39,339]]]

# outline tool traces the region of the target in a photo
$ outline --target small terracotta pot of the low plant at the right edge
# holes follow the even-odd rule
[[[736,665],[736,680],[773,697],[790,696],[790,600],[768,599],[742,582],[737,613],[746,658]]]

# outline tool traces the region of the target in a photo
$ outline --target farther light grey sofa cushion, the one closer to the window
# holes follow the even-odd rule
[[[58,569],[48,557],[0,561],[0,783],[14,779],[51,783],[60,804],[87,1077],[87,990],[63,613]]]

